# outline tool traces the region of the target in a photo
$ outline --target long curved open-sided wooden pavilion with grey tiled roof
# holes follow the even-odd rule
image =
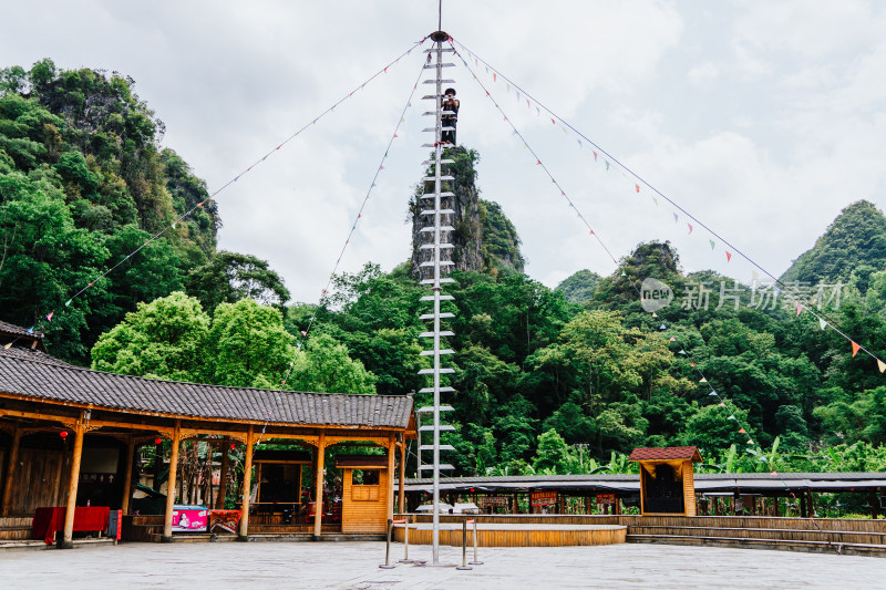
[[[279,482],[269,480],[269,474],[282,472],[274,467],[291,464],[299,473],[296,501],[301,501],[301,469],[309,466],[313,482],[320,483],[315,484],[311,499],[323,506],[324,451],[348,444],[381,447],[385,454],[375,462],[384,462],[385,477],[379,485],[387,520],[394,509],[398,452],[403,506],[406,442],[415,436],[410,395],[228,387],[91,371],[47,354],[41,334],[0,322],[0,516],[29,516],[38,507],[64,506],[60,547],[72,545],[78,506],[91,503],[130,513],[136,451],[161,438],[171,442],[162,535],[162,540],[171,541],[178,453],[184,441],[204,441],[222,448],[241,445],[238,535],[245,540],[250,511],[256,508],[251,501],[255,458],[267,465],[264,480],[259,468],[259,504],[262,496],[267,499],[279,491]],[[302,452],[287,458],[262,451],[255,457],[259,441],[290,444]],[[312,451],[312,458],[303,449]],[[348,496],[342,498],[342,513],[357,520],[344,528],[384,531],[375,516],[372,524],[358,521],[362,513],[349,509],[351,501]],[[323,510],[315,510],[312,520],[313,535],[319,537]]]

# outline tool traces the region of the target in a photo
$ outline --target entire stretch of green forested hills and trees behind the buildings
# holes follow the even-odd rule
[[[163,124],[133,84],[49,60],[0,73],[0,319],[45,329],[56,356],[121,373],[367,394],[426,386],[418,259],[391,272],[369,263],[334,277],[320,306],[289,304],[267,262],[216,251],[205,183],[162,146]],[[462,249],[445,306],[457,393],[445,401],[457,474],[619,472],[635,446],[682,444],[713,470],[886,469],[884,375],[835,330],[772,286],[687,273],[667,242],[552,290],[523,272],[502,207],[480,198],[478,154],[453,154]],[[416,215],[415,195],[404,200]],[[673,294],[655,314],[640,297],[649,278]],[[847,207],[783,279],[886,355],[886,218],[872,204]],[[60,312],[43,321],[50,310]]]

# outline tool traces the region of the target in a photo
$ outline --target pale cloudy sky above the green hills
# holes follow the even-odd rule
[[[886,4],[875,1],[445,0],[443,29],[774,275],[848,204],[886,208]],[[119,71],[212,190],[436,29],[436,0],[16,2],[0,66],[49,56]],[[424,45],[425,48],[427,44]],[[467,55],[465,55],[467,56]],[[267,259],[317,301],[400,121],[413,51],[218,195],[220,246]],[[740,257],[471,62],[620,258],[670,240],[683,268],[750,279]],[[549,286],[612,261],[461,62],[459,141],[482,196]],[[429,86],[425,86],[429,87]],[[405,260],[406,204],[427,151],[420,84],[340,270]],[[424,103],[424,104],[423,104]]]

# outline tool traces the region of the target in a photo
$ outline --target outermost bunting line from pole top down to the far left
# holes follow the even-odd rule
[[[413,44],[412,44],[412,45],[411,45],[411,46],[410,46],[410,48],[409,48],[406,51],[404,51],[403,53],[401,53],[400,55],[398,55],[398,56],[396,56],[394,60],[392,60],[390,63],[388,63],[388,65],[385,65],[385,66],[383,66],[382,69],[380,69],[379,71],[377,71],[374,74],[372,74],[371,76],[369,76],[368,79],[365,79],[365,80],[364,80],[362,83],[360,83],[359,85],[354,86],[354,87],[353,87],[353,89],[352,89],[352,90],[351,90],[351,91],[350,91],[348,94],[343,95],[341,99],[339,99],[339,100],[338,100],[336,103],[333,103],[331,106],[329,106],[329,107],[327,107],[324,111],[320,112],[320,114],[319,114],[319,115],[317,115],[317,116],[316,116],[316,117],[315,117],[315,118],[313,118],[313,120],[312,120],[310,123],[306,123],[305,125],[302,125],[301,127],[299,127],[298,130],[296,130],[295,132],[292,132],[292,133],[291,133],[291,134],[290,134],[288,137],[286,137],[286,138],[285,138],[284,141],[281,141],[279,144],[277,144],[277,145],[276,145],[274,148],[271,148],[270,151],[268,151],[268,152],[267,152],[265,155],[262,155],[261,157],[259,157],[258,159],[256,159],[255,162],[253,162],[253,164],[250,164],[249,166],[247,166],[245,169],[240,170],[240,172],[239,172],[239,173],[238,173],[236,176],[234,176],[233,178],[230,178],[229,180],[227,180],[225,184],[223,184],[220,187],[218,187],[218,188],[217,188],[215,192],[213,192],[212,194],[209,194],[209,195],[208,195],[208,196],[207,196],[207,197],[206,197],[204,200],[202,200],[202,201],[197,203],[196,205],[194,205],[194,206],[193,206],[193,207],[190,207],[189,209],[185,210],[185,211],[184,211],[182,215],[179,215],[178,217],[176,217],[176,218],[175,218],[175,220],[174,220],[172,224],[169,224],[169,225],[165,226],[163,229],[161,229],[159,231],[157,231],[156,234],[154,234],[153,236],[151,236],[148,239],[146,239],[146,240],[145,240],[145,241],[144,241],[142,245],[140,245],[137,248],[135,248],[135,249],[134,249],[134,250],[132,250],[130,253],[127,253],[126,256],[124,256],[123,258],[121,258],[120,260],[117,260],[117,262],[116,262],[116,263],[114,263],[112,267],[110,267],[110,268],[105,269],[103,272],[101,272],[100,275],[97,275],[97,276],[96,276],[94,279],[92,279],[91,281],[89,281],[89,282],[87,282],[85,286],[83,286],[83,287],[82,287],[80,290],[78,290],[76,292],[74,292],[74,294],[72,294],[72,296],[71,296],[71,297],[70,297],[70,298],[69,298],[69,299],[68,299],[68,300],[64,302],[64,306],[63,306],[63,308],[69,308],[69,307],[71,306],[71,303],[72,303],[72,302],[73,302],[75,299],[78,299],[78,298],[79,298],[79,297],[81,297],[83,293],[85,293],[85,292],[86,292],[89,289],[91,289],[91,288],[92,288],[92,287],[93,287],[93,286],[94,286],[94,284],[95,284],[97,281],[100,281],[101,279],[103,279],[103,278],[107,277],[107,275],[110,275],[111,272],[113,272],[113,271],[114,271],[114,270],[115,270],[117,267],[120,267],[121,265],[123,265],[123,263],[124,263],[124,262],[126,262],[127,260],[132,259],[132,257],[134,257],[135,255],[137,255],[137,253],[138,253],[138,252],[140,252],[142,249],[144,249],[146,246],[148,246],[148,245],[150,245],[150,244],[152,244],[153,241],[155,241],[155,240],[159,239],[159,238],[161,238],[162,236],[164,236],[164,235],[165,235],[165,234],[166,234],[168,230],[171,230],[171,229],[175,229],[175,226],[176,226],[177,224],[182,222],[184,219],[186,219],[187,217],[189,217],[189,216],[190,216],[190,215],[192,215],[194,211],[196,211],[197,209],[202,208],[202,207],[203,207],[203,206],[204,206],[204,205],[205,205],[205,204],[206,204],[208,200],[218,200],[216,197],[217,197],[217,196],[218,196],[218,195],[219,195],[222,192],[224,192],[225,189],[227,189],[228,187],[230,187],[231,185],[234,185],[235,183],[237,183],[237,182],[240,179],[240,177],[243,177],[243,176],[245,176],[246,174],[249,174],[250,172],[253,172],[253,169],[254,169],[256,166],[259,166],[259,165],[260,165],[260,164],[262,164],[262,163],[264,163],[266,159],[268,159],[268,157],[269,157],[269,156],[271,156],[271,155],[276,154],[277,152],[279,152],[279,151],[280,151],[280,148],[282,148],[285,145],[289,144],[289,143],[290,143],[290,142],[292,142],[292,141],[293,141],[296,137],[298,137],[299,135],[301,135],[301,133],[302,133],[302,132],[305,132],[305,131],[306,131],[308,127],[310,127],[310,126],[315,125],[315,124],[316,124],[318,121],[320,121],[321,118],[323,118],[326,115],[328,115],[328,114],[330,114],[330,113],[334,112],[334,110],[336,110],[336,107],[337,107],[337,106],[339,106],[339,105],[340,105],[340,104],[342,104],[343,102],[346,102],[346,101],[348,101],[349,99],[351,99],[351,97],[352,97],[352,96],[353,96],[353,95],[354,95],[357,92],[359,92],[359,91],[363,90],[363,89],[365,87],[365,85],[367,85],[367,84],[369,84],[370,82],[374,81],[374,80],[375,80],[375,79],[378,79],[379,76],[382,76],[382,75],[387,74],[387,73],[388,73],[388,69],[389,69],[389,68],[391,68],[392,65],[395,65],[396,63],[399,63],[399,62],[400,62],[400,60],[401,60],[402,58],[404,58],[405,55],[409,55],[410,53],[412,53],[412,51],[413,51],[415,48],[418,48],[418,46],[422,45],[422,44],[423,44],[423,43],[424,43],[426,40],[427,40],[427,37],[424,37],[424,38],[420,39],[419,41],[415,41],[415,42],[414,42],[414,43],[413,43]],[[413,90],[414,90],[414,89],[413,89]],[[45,315],[42,315],[42,314],[41,314],[41,317],[42,317],[42,318],[45,318],[45,323],[44,323],[43,321],[37,322],[34,325],[31,325],[31,327],[28,329],[28,332],[29,332],[29,333],[33,333],[34,331],[38,331],[38,332],[42,331],[42,330],[43,330],[43,328],[42,328],[42,327],[43,327],[43,325],[47,325],[49,322],[51,322],[51,321],[52,321],[52,319],[53,319],[53,317],[54,317],[54,315],[55,315],[58,312],[60,312],[60,311],[63,311],[63,308],[62,308],[62,309],[54,309],[54,310],[50,311],[49,313],[47,313]],[[11,345],[12,345],[14,342],[16,342],[16,341],[13,340],[13,341],[12,341],[12,342],[10,342],[9,344],[7,344],[4,348],[10,348],[10,346],[11,346]]]

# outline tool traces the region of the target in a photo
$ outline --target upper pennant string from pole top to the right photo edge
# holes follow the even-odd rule
[[[507,75],[503,74],[499,70],[494,68],[486,60],[480,58],[470,48],[467,48],[466,45],[464,45],[463,43],[461,43],[460,41],[457,41],[455,39],[451,39],[450,43],[453,44],[453,50],[455,50],[454,45],[457,44],[462,50],[464,50],[467,53],[468,58],[472,59],[475,64],[477,64],[477,65],[482,64],[487,73],[492,73],[493,76],[494,76],[493,77],[493,83],[497,82],[497,80],[501,79],[502,81],[504,81],[508,85],[508,89],[513,87],[514,92],[515,92],[515,95],[517,96],[517,100],[518,101],[519,100],[524,100],[526,102],[527,108],[530,108],[532,105],[534,104],[535,105],[535,110],[536,110],[536,114],[538,116],[540,116],[540,114],[544,112],[550,118],[552,124],[554,124],[554,125],[558,125],[559,124],[559,126],[564,131],[564,133],[567,133],[567,131],[571,131],[577,136],[576,141],[577,141],[579,147],[584,147],[584,144],[583,144],[583,139],[584,139],[584,142],[587,143],[593,148],[591,153],[593,153],[595,162],[597,162],[599,164],[599,159],[602,159],[604,161],[602,164],[605,165],[607,170],[610,169],[610,165],[618,166],[618,168],[620,169],[622,176],[625,176],[625,177],[630,176],[632,178],[633,182],[632,182],[632,187],[631,188],[633,189],[633,193],[640,194],[641,187],[645,187],[645,188],[647,188],[648,190],[650,190],[652,193],[651,198],[655,201],[656,206],[658,206],[658,204],[659,204],[659,201],[658,201],[659,197],[664,199],[668,204],[670,204],[674,208],[674,211],[673,211],[674,224],[679,224],[680,214],[682,214],[682,216],[684,216],[688,219],[688,221],[687,221],[688,234],[693,234],[693,229],[697,229],[697,228],[704,229],[712,238],[715,238],[715,240],[714,239],[709,239],[709,242],[710,242],[710,246],[711,246],[712,250],[714,250],[717,248],[718,241],[719,241],[719,244],[722,244],[724,246],[723,253],[724,253],[724,256],[727,258],[727,262],[731,262],[733,256],[739,256],[739,257],[743,258],[749,265],[751,265],[753,268],[758,269],[760,272],[762,272],[763,275],[769,277],[773,281],[773,284],[775,284],[775,286],[777,286],[780,288],[780,292],[782,293],[782,296],[785,297],[789,301],[791,301],[792,303],[794,303],[796,306],[796,309],[799,311],[797,315],[800,315],[800,313],[802,311],[807,311],[812,317],[814,317],[816,320],[818,320],[820,325],[822,327],[823,330],[830,327],[837,334],[839,334],[842,338],[844,338],[849,343],[849,345],[852,348],[853,358],[855,358],[859,351],[864,352],[866,355],[868,355],[870,359],[873,359],[876,362],[877,370],[880,373],[886,372],[886,362],[884,362],[877,354],[875,354],[868,348],[859,344],[852,337],[849,337],[845,331],[839,329],[833,320],[828,319],[827,313],[825,311],[812,309],[814,307],[814,302],[811,299],[804,298],[802,294],[797,296],[796,293],[794,293],[793,289],[790,286],[785,284],[779,278],[776,278],[774,275],[769,272],[765,268],[763,268],[763,266],[761,263],[759,263],[756,260],[751,258],[742,249],[738,248],[734,244],[732,244],[730,240],[728,240],[722,235],[717,232],[714,229],[712,229],[704,221],[702,221],[701,219],[699,219],[698,217],[692,215],[689,210],[683,208],[676,200],[673,200],[672,198],[670,198],[669,196],[663,194],[656,186],[653,186],[650,182],[646,180],[646,178],[640,176],[632,168],[630,168],[624,162],[621,162],[618,157],[614,156],[611,153],[609,153],[605,148],[602,148],[599,144],[594,142],[594,139],[591,139],[590,137],[588,137],[587,135],[581,133],[579,130],[577,130],[575,126],[573,126],[570,123],[568,123],[566,120],[564,120],[563,117],[557,115],[554,111],[548,108],[544,103],[538,101],[535,96],[529,94],[525,89],[523,89],[521,85],[518,85],[516,82],[514,82],[514,80],[512,80]],[[467,66],[470,69],[470,66],[465,62],[464,58],[462,58],[461,54],[459,56],[460,56],[460,59],[462,59],[463,63],[465,63],[465,66]],[[476,75],[474,75],[474,77],[477,79]],[[477,79],[477,81],[480,82],[478,79]],[[482,82],[481,82],[481,85],[483,85]],[[484,86],[484,90],[486,91],[486,95],[491,96],[488,90],[486,90],[485,86]],[[498,105],[496,104],[496,107]],[[499,111],[501,111],[501,108],[499,108]],[[540,161],[538,161],[538,162],[540,162]],[[611,255],[610,255],[610,258],[611,258]]]

